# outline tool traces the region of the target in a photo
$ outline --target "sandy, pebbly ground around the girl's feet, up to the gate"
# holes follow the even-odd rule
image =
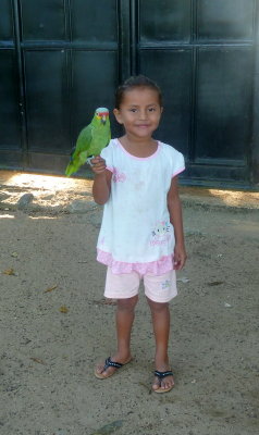
[[[188,261],[171,303],[175,388],[156,395],[143,291],[135,360],[94,376],[114,350],[115,306],[95,260],[91,183],[0,172],[0,185],[1,435],[259,433],[259,194],[182,189]]]

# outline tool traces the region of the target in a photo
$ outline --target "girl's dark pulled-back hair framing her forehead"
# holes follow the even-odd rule
[[[136,75],[128,77],[121,86],[118,87],[115,91],[115,109],[120,109],[124,94],[135,88],[150,88],[156,90],[158,92],[159,104],[160,107],[163,105],[162,92],[156,82],[151,80],[145,75]]]

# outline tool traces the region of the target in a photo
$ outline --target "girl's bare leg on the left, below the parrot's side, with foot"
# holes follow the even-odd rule
[[[125,364],[131,360],[131,333],[133,321],[135,316],[135,306],[137,303],[138,296],[134,296],[128,299],[118,299],[116,304],[116,338],[118,349],[116,352],[111,357],[114,362],[121,362]],[[97,373],[110,376],[116,371],[115,368],[109,366],[103,371],[104,364],[99,364],[96,368]]]

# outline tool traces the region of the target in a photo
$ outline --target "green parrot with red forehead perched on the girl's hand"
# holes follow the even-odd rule
[[[111,140],[111,127],[109,119],[109,110],[98,108],[91,120],[78,135],[75,148],[72,150],[71,160],[65,170],[65,175],[71,176],[84,163],[90,164],[90,158],[99,156]]]

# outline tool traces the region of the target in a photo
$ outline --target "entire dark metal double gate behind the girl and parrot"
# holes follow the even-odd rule
[[[256,186],[258,22],[258,0],[1,0],[0,167],[63,173],[95,108],[144,73],[185,183]]]

